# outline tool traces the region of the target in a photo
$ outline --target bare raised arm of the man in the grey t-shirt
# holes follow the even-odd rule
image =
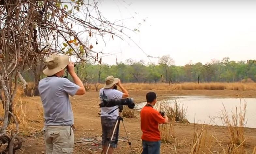
[[[68,63],[68,72],[71,75],[71,77],[73,78],[75,84],[79,86],[79,89],[77,90],[76,95],[85,94],[86,91],[83,86],[83,82],[80,80],[80,78],[77,76],[77,74],[75,72],[74,63],[72,63],[72,62]]]

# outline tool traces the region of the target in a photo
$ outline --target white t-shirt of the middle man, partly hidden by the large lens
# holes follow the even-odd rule
[[[100,98],[100,103],[102,103],[103,101],[103,90],[104,90],[104,94],[105,94],[105,99],[109,100],[109,99],[121,99],[123,96],[123,93],[121,91],[115,90],[115,89],[104,89],[101,88],[99,90],[99,98]],[[118,106],[113,106],[113,107],[102,107],[100,108],[101,111],[101,117],[108,117],[110,119],[114,119],[116,120],[116,118],[118,117],[118,112],[119,109],[115,110],[113,113],[108,114],[109,112],[111,112],[112,110],[116,109]]]

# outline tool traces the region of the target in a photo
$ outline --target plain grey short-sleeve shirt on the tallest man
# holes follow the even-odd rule
[[[62,77],[46,77],[39,82],[39,93],[44,108],[45,125],[73,125],[74,117],[69,95],[74,96],[79,86]]]

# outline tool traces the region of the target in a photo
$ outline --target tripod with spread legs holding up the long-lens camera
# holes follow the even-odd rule
[[[124,122],[123,122],[124,119],[120,116],[121,112],[123,111],[123,106],[122,106],[122,105],[118,106],[118,108],[114,109],[113,111],[109,112],[108,114],[113,113],[113,112],[114,112],[115,110],[117,110],[117,109],[119,109],[119,116],[116,118],[115,127],[114,127],[114,130],[113,130],[113,132],[112,132],[112,136],[111,136],[111,139],[110,139],[110,141],[109,141],[109,145],[108,145],[108,149],[107,149],[107,153],[106,153],[106,154],[108,154],[108,151],[109,151],[109,148],[110,148],[111,143],[117,144],[117,142],[118,142],[118,134],[119,134],[120,121],[122,121],[122,124],[123,124],[123,126],[124,126],[124,130],[125,130],[125,134],[126,134],[126,137],[127,137],[127,139],[128,139],[128,142],[127,142],[127,141],[123,141],[123,142],[127,142],[127,143],[129,144],[130,148],[131,148],[131,142],[129,141],[128,133],[127,133],[127,131],[126,131],[126,129],[125,129],[125,125],[124,125]],[[113,140],[115,131],[116,131],[116,135],[115,135],[115,139]],[[131,151],[132,151],[132,153],[133,153],[132,148],[131,148]]]

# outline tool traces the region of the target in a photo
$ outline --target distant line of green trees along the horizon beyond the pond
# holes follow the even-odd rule
[[[126,60],[116,65],[83,63],[77,64],[78,75],[84,83],[104,83],[105,77],[113,75],[122,82],[138,83],[181,83],[181,82],[239,82],[256,81],[256,61],[212,61],[174,65],[170,56],[163,56],[158,64],[145,64],[143,61]],[[33,81],[33,73],[23,72],[28,81]]]

